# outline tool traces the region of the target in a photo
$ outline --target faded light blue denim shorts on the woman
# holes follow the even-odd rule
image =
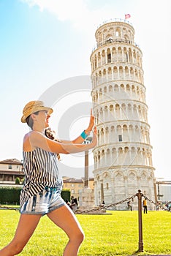
[[[30,197],[20,208],[20,214],[48,214],[66,203],[57,188],[45,187],[42,192]]]

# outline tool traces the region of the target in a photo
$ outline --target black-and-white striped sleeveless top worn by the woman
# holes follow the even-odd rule
[[[59,177],[57,163],[57,155],[42,148],[23,151],[25,181],[20,192],[20,206],[45,187],[56,187],[61,192],[63,181]]]

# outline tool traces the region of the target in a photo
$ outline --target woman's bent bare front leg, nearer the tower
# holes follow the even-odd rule
[[[64,249],[64,256],[76,256],[80,244],[84,239],[83,230],[75,214],[68,206],[62,206],[51,211],[47,216],[69,237],[69,242]]]

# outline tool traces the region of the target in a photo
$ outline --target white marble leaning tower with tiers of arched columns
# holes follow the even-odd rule
[[[126,20],[96,30],[91,80],[98,143],[94,149],[95,205],[110,204],[137,193],[155,200],[148,105],[142,51]],[[132,202],[137,209],[136,199]],[[114,209],[125,209],[126,203]],[[153,205],[148,206],[153,209]]]

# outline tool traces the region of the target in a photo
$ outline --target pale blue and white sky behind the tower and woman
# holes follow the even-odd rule
[[[80,135],[91,108],[95,31],[129,13],[143,54],[153,167],[156,177],[171,180],[170,10],[170,0],[0,0],[0,160],[22,159],[28,127],[20,117],[30,100],[53,105],[51,124],[62,138]],[[61,163],[62,176],[83,176],[83,154],[62,156]]]

